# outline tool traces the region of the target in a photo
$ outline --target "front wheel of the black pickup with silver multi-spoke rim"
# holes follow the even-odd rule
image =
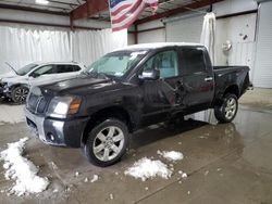
[[[118,163],[128,146],[126,125],[115,118],[108,118],[88,132],[84,153],[88,161],[100,167]]]

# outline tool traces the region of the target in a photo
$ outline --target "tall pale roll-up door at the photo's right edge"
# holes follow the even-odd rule
[[[272,88],[272,2],[262,2],[257,40],[255,87]]]

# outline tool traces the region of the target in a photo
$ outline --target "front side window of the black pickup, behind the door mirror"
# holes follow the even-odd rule
[[[176,51],[164,51],[153,55],[144,65],[144,71],[158,68],[161,78],[178,76],[178,55]]]

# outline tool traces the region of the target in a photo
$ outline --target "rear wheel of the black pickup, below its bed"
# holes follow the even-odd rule
[[[214,107],[215,118],[220,123],[231,123],[238,111],[238,100],[235,94],[227,93],[224,95],[221,106]]]

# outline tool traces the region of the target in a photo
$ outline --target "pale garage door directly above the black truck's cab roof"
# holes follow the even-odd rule
[[[168,42],[200,42],[203,15],[166,22]]]

